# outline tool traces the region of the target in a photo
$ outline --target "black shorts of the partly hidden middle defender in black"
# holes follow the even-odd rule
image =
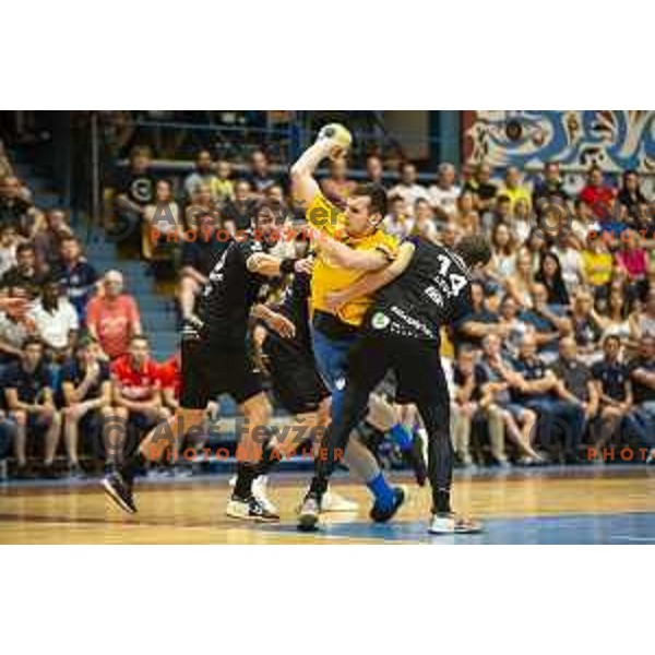
[[[273,394],[289,414],[311,414],[330,396],[310,346],[270,332],[262,349],[267,358]]]

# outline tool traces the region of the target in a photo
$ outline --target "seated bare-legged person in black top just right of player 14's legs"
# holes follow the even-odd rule
[[[491,456],[499,466],[508,466],[504,453],[504,426],[502,414],[492,404],[490,394],[483,393],[487,381],[484,369],[475,364],[475,353],[462,348],[453,371],[455,384],[453,445],[457,458],[464,466],[473,464],[471,433],[474,425],[487,424]]]

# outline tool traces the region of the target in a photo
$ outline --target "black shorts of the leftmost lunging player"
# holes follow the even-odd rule
[[[204,409],[221,394],[241,405],[262,392],[260,374],[243,345],[224,345],[211,340],[182,340],[182,389],[180,406]]]

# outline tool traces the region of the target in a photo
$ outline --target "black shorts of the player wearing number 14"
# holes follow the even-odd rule
[[[396,379],[397,403],[448,403],[439,345],[405,336],[365,334],[349,353],[348,383],[372,390],[391,370]]]

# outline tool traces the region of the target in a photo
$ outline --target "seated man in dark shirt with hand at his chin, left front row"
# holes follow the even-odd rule
[[[69,458],[69,475],[82,476],[80,467],[80,431],[86,437],[104,433],[104,422],[114,414],[109,365],[99,358],[99,348],[90,337],[82,337],[61,369],[61,393],[64,403],[63,438]],[[94,439],[94,445],[99,440]],[[107,446],[105,448],[108,452]],[[95,453],[94,453],[95,454]]]

